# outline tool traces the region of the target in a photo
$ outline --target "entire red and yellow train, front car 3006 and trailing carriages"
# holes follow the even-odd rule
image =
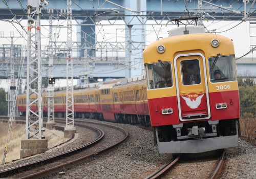
[[[154,128],[160,153],[198,153],[238,146],[239,91],[232,40],[186,26],[143,52],[145,76],[75,87],[74,115]],[[32,97],[33,98],[33,97]],[[47,94],[43,95],[47,113]],[[26,115],[26,95],[17,99]],[[66,90],[54,92],[56,117]]]

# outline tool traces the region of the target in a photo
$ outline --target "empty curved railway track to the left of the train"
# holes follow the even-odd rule
[[[113,128],[113,130],[119,130],[119,132],[123,133],[122,139],[118,140],[111,146],[105,147],[104,149],[99,149],[99,150],[95,150],[95,148],[91,149],[92,146],[96,145],[99,142],[101,143],[101,141],[103,141],[104,132],[98,129],[97,127],[85,125],[84,121],[82,121],[82,123],[78,122],[75,124],[76,126],[89,127],[91,130],[94,130],[95,132],[97,132],[98,133],[97,139],[95,139],[90,143],[79,146],[75,149],[56,154],[47,159],[41,159],[36,162],[29,162],[25,165],[19,165],[13,168],[2,170],[0,172],[0,177],[39,178],[39,177],[50,175],[52,173],[58,173],[61,175],[63,169],[67,169],[78,163],[82,163],[84,161],[97,158],[97,156],[120,146],[123,142],[125,142],[129,138],[129,134],[122,128],[115,127],[113,125],[90,122],[90,125],[92,124],[104,125],[105,127]]]

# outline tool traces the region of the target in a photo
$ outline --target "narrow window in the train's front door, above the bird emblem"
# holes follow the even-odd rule
[[[201,83],[199,60],[181,61],[181,73],[183,85],[193,85]]]

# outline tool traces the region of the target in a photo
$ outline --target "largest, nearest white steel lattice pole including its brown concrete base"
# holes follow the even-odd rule
[[[42,0],[28,0],[27,43],[27,110],[26,140],[22,140],[20,159],[24,156],[45,152],[48,141],[42,135],[42,91],[41,91],[41,37],[40,15]],[[35,10],[34,10],[35,9]]]

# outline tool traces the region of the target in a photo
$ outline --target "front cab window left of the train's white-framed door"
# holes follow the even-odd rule
[[[162,87],[172,87],[173,77],[170,62],[162,62],[146,64],[147,88],[155,89]]]

